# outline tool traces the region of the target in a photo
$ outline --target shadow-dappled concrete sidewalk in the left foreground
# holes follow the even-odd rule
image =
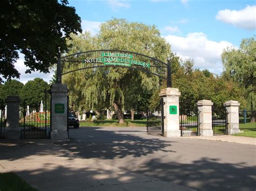
[[[0,173],[15,172],[39,190],[193,190],[85,159],[50,139],[2,139],[0,153]]]

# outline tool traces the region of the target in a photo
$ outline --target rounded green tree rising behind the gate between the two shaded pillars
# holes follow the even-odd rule
[[[37,77],[26,82],[21,90],[22,105],[38,107],[41,101],[45,100],[45,90],[49,90],[49,85],[43,79]]]

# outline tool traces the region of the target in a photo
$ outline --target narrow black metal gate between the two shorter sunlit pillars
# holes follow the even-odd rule
[[[216,109],[212,106],[212,130],[213,135],[227,135],[227,110]]]

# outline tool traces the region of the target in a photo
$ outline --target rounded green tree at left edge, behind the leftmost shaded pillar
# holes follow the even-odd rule
[[[0,86],[0,102],[4,102],[5,98],[10,95],[19,96],[23,86],[23,83],[17,80],[6,81],[3,85]]]

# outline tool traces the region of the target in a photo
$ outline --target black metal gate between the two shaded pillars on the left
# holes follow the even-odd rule
[[[21,138],[50,138],[51,96],[45,91],[44,101],[36,105],[21,105],[19,126]]]

